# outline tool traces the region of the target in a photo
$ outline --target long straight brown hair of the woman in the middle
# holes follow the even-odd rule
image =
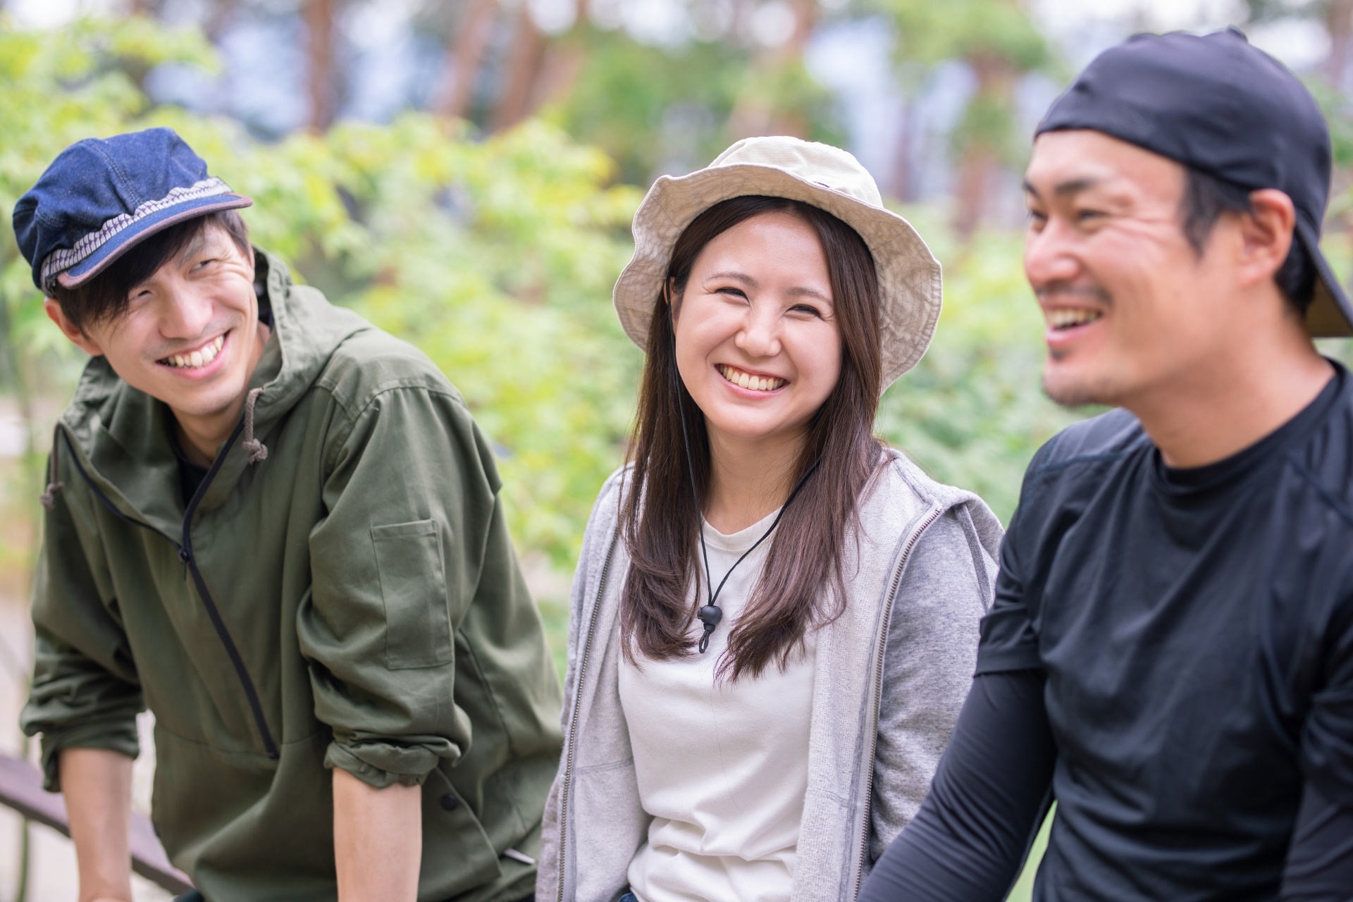
[[[808,426],[794,480],[817,462],[770,540],[752,595],[728,634],[720,678],[759,676],[773,661],[783,668],[806,630],[840,614],[842,559],[859,496],[878,467],[882,446],[873,435],[882,364],[878,276],[869,247],[854,229],[817,207],[785,197],[733,197],[704,211],[672,249],[667,284],[674,299],[686,291],[700,252],[737,223],[767,212],[789,212],[817,233],[827,257],[832,304],[842,335],[836,387]],[[674,300],[679,304],[679,300]],[[621,530],[630,567],[621,591],[621,642],[655,660],[691,653],[691,625],[702,604],[697,563],[701,507],[691,494],[682,419],[690,437],[690,467],[702,504],[709,491],[705,418],[676,372],[675,339],[666,298],[653,299],[648,360],[639,389],[637,427],[629,445],[633,473]],[[695,600],[690,586],[695,581]],[[827,592],[831,587],[835,591]],[[828,602],[828,596],[835,596]]]

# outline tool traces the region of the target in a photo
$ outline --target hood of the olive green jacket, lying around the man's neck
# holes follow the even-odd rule
[[[372,326],[334,307],[317,289],[294,284],[277,257],[254,247],[254,261],[260,310],[272,310],[273,325],[246,392],[261,389],[253,406],[253,434],[267,445],[338,345]],[[57,423],[53,456],[74,450],[85,477],[123,514],[173,536],[180,531],[183,508],[175,492],[179,462],[166,438],[169,415],[162,402],[124,383],[107,358],[95,357]],[[199,510],[219,506],[252,465],[238,433],[227,442]]]

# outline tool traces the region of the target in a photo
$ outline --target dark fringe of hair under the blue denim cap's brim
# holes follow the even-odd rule
[[[112,265],[78,288],[53,285],[51,296],[76,329],[116,319],[126,312],[131,289],[150,279],[208,226],[225,229],[239,253],[249,257],[249,229],[244,218],[235,210],[218,210],[157,231],[127,249]]]

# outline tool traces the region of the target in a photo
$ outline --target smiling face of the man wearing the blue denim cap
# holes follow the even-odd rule
[[[253,277],[253,254],[208,223],[131,288],[126,311],[62,330],[87,352],[106,356],[124,383],[168,404],[185,427],[233,419],[264,337]],[[61,325],[57,303],[47,304]]]

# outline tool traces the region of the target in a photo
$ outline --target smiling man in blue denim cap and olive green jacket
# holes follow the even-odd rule
[[[14,211],[92,356],[23,711],[80,898],[131,898],[146,707],[152,820],[211,902],[526,898],[560,696],[488,444],[426,357],[250,246],[249,203],[152,128],[68,147]]]

